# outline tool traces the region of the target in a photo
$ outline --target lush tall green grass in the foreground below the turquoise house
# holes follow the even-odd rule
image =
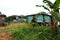
[[[13,40],[60,40],[60,34],[53,35],[50,27],[22,27],[12,31]]]

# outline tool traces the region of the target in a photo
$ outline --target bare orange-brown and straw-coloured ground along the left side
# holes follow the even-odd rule
[[[15,24],[10,24],[7,26],[1,26],[0,27],[0,40],[11,40],[11,32],[6,31],[5,29],[11,29],[11,28],[18,28],[22,27],[24,24],[23,23],[15,23]]]

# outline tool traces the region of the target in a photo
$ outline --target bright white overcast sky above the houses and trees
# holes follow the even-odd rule
[[[7,16],[11,15],[30,15],[38,12],[48,12],[42,7],[36,5],[43,5],[43,0],[0,0],[0,12]],[[55,0],[50,0],[54,2]]]

